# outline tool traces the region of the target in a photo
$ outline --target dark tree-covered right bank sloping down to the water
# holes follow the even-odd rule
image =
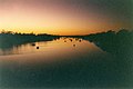
[[[108,32],[89,34],[84,39],[94,42],[102,50],[119,57],[127,57],[133,52],[133,31],[125,29],[119,32],[110,30]]]

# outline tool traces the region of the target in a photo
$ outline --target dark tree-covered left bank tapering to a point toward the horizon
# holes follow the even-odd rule
[[[12,49],[14,46],[35,42],[35,41],[51,41],[58,39],[59,36],[52,34],[33,34],[33,33],[18,33],[2,30],[0,33],[0,48],[2,50]]]

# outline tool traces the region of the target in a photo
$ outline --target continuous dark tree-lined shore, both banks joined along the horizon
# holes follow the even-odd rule
[[[52,41],[59,38],[76,38],[84,39],[93,42],[102,50],[115,56],[127,56],[133,50],[133,31],[122,29],[117,32],[106,31],[100,33],[92,33],[86,36],[53,36],[53,34],[34,34],[34,33],[18,33],[11,31],[1,31],[0,33],[0,48],[11,49],[12,47],[32,43],[37,41]],[[33,44],[32,44],[33,46]]]

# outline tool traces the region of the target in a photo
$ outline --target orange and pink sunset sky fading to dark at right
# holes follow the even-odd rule
[[[133,29],[133,0],[0,0],[0,30],[88,34]]]

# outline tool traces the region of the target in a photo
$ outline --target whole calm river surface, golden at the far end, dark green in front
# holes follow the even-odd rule
[[[73,38],[0,48],[0,88],[132,88],[132,50],[106,50]]]

